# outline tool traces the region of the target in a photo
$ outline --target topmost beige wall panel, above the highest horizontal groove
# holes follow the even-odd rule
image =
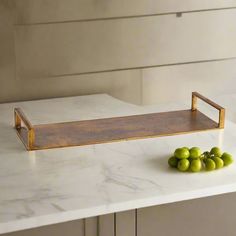
[[[16,0],[16,3],[19,24],[236,7],[236,0]]]

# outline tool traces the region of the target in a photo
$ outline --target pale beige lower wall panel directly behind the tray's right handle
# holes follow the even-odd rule
[[[236,60],[143,70],[143,104],[188,102],[192,91],[206,96],[236,93]]]

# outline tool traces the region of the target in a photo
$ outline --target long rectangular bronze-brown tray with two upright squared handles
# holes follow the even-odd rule
[[[197,98],[219,110],[218,123],[197,110]],[[225,109],[193,92],[189,110],[45,125],[31,125],[20,108],[14,117],[26,149],[40,150],[224,128]]]

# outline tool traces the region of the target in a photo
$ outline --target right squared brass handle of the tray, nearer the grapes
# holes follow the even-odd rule
[[[225,126],[225,109],[216,104],[215,102],[211,101],[210,99],[202,96],[198,92],[193,92],[192,93],[192,111],[197,110],[197,99],[201,99],[202,101],[206,102],[207,104],[213,106],[217,110],[219,110],[219,121],[218,121],[218,127],[223,129]]]

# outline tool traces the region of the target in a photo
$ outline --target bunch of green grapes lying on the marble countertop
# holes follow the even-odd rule
[[[222,153],[220,148],[213,147],[210,152],[203,152],[199,147],[177,148],[174,155],[169,158],[170,167],[179,171],[199,172],[220,169],[233,163],[233,157],[227,152]]]

